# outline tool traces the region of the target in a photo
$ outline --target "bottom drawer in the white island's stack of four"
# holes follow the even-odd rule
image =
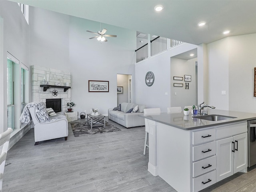
[[[198,192],[216,183],[216,170],[192,179],[193,192]]]

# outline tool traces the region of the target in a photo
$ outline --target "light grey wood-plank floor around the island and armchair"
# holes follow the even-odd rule
[[[79,119],[78,121],[84,121]],[[107,120],[108,121],[108,120]],[[147,170],[143,155],[145,128],[59,138],[34,146],[31,129],[7,154],[2,192],[176,192]],[[202,192],[255,192],[256,169],[234,176]]]

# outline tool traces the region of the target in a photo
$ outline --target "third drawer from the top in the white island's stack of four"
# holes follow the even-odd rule
[[[216,169],[216,156],[212,156],[197,162],[192,163],[192,176],[197,177],[211,170]]]

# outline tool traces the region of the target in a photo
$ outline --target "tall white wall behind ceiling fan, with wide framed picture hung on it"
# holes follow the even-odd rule
[[[86,32],[100,30],[99,22],[39,8],[30,16],[31,63],[71,72],[73,111],[107,114],[117,102],[116,74],[135,74],[136,31],[102,24],[117,37],[100,43]],[[109,92],[88,92],[88,80],[109,81]]]

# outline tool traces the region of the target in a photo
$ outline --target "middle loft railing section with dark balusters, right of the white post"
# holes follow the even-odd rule
[[[167,50],[167,38],[158,36],[150,41],[150,45],[151,56],[154,56]]]

